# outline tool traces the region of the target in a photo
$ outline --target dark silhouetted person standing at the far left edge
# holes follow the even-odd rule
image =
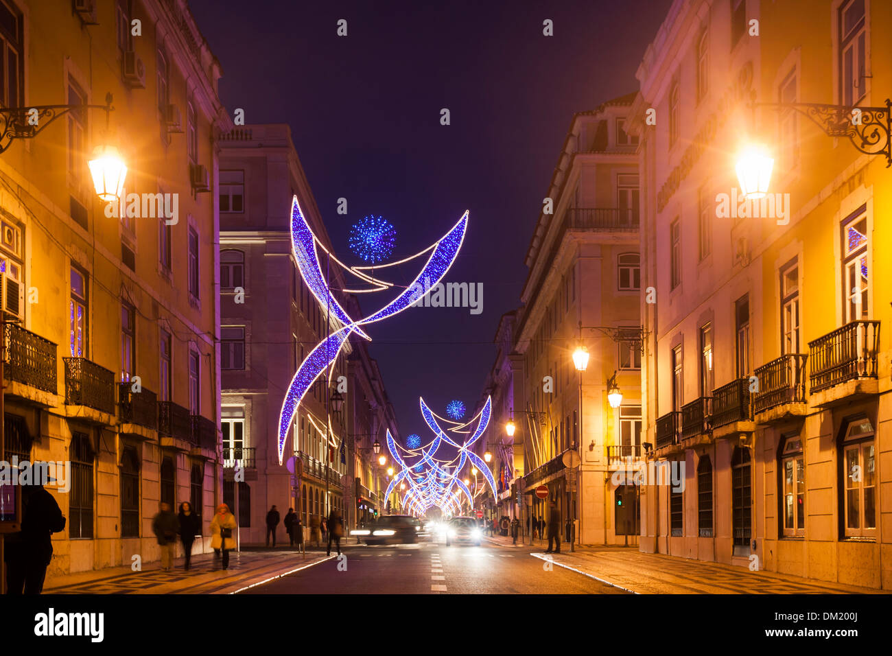
[[[6,594],[40,594],[53,560],[50,536],[65,529],[65,516],[43,486],[21,486],[21,530],[6,536]]]

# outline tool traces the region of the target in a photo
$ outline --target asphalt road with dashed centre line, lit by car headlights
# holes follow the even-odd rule
[[[557,565],[546,569],[531,551],[486,542],[351,544],[343,548],[346,560],[333,558],[241,594],[626,594]]]

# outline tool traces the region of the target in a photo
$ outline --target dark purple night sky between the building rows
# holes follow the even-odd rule
[[[500,316],[519,304],[570,120],[637,89],[635,70],[670,4],[189,0],[222,66],[227,110],[244,108],[249,124],[291,125],[346,262],[361,263],[347,239],[364,216],[393,224],[392,259],[401,259],[470,211],[446,281],[483,283],[483,312],[409,308],[369,327],[402,436],[429,437],[419,394],[439,414],[451,399],[474,407]],[[336,36],[340,19],[347,37]],[[545,19],[553,37],[542,35]],[[342,196],[346,216],[336,213]],[[401,266],[394,282],[408,284],[423,262]]]

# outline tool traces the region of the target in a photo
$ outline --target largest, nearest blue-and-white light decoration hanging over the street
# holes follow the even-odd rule
[[[316,345],[304,361],[301,362],[301,366],[294,374],[291,384],[288,386],[288,391],[285,393],[278,426],[278,458],[280,465],[285,454],[285,442],[294,419],[294,414],[297,412],[303,396],[310,389],[310,386],[323,372],[326,372],[326,379],[331,378],[331,367],[351,335],[371,341],[371,337],[361,327],[391,317],[405,310],[412,303],[417,303],[424,298],[429,293],[431,286],[439,282],[446,275],[446,272],[450,270],[452,262],[455,262],[458,251],[465,239],[466,231],[467,212],[462,215],[458,222],[443,237],[425,248],[424,251],[397,262],[387,262],[374,267],[375,270],[386,269],[387,267],[409,262],[429,253],[427,261],[418,272],[415,280],[402,289],[400,294],[396,295],[390,303],[386,303],[379,310],[369,314],[368,317],[353,320],[341,304],[337,302],[326,282],[326,276],[322,273],[318,249],[321,249],[326,254],[329,262],[334,262],[343,267],[347,273],[371,286],[371,288],[362,289],[343,289],[342,292],[344,294],[377,292],[395,285],[387,280],[369,275],[366,271],[372,269],[371,266],[348,267],[343,262],[340,262],[333,253],[329,253],[316,235],[313,234],[310,224],[304,218],[303,212],[301,212],[297,196],[293,196],[291,204],[291,245],[294,259],[297,262],[298,270],[301,271],[301,278],[303,278],[307,288],[315,296],[320,308],[325,311],[326,316],[331,317],[332,325],[328,331],[329,335]],[[421,281],[425,278],[431,278],[434,280],[434,283],[431,286],[423,285]],[[326,435],[331,436],[332,434],[333,431],[329,425],[326,427]],[[330,443],[329,446],[336,447],[337,444]]]

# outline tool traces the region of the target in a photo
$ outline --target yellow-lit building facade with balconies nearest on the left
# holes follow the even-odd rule
[[[219,64],[175,2],[3,0],[0,50],[7,119],[108,93],[114,108],[107,125],[76,108],[4,133],[4,459],[70,462],[70,489],[47,487],[67,518],[48,580],[157,560],[159,502],[192,502],[210,535],[221,497]],[[124,214],[95,192],[103,144],[138,195]]]

